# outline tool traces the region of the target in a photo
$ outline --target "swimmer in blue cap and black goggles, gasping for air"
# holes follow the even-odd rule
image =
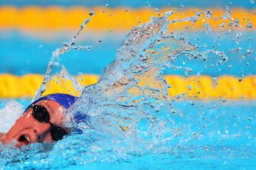
[[[16,142],[14,147],[32,143],[54,142],[70,134],[63,126],[66,110],[77,97],[68,94],[49,94],[32,102],[6,134],[0,133],[2,144]],[[81,118],[80,118],[81,119]]]

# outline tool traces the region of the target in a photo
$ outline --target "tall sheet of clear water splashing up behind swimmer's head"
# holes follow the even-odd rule
[[[102,152],[114,150],[119,158],[126,158],[129,153],[169,150],[169,142],[175,136],[181,136],[182,129],[159,118],[158,112],[166,107],[175,113],[172,100],[168,98],[169,86],[163,79],[163,70],[173,67],[172,63],[182,55],[206,59],[207,54],[214,54],[223,61],[227,60],[224,52],[200,52],[187,39],[166,35],[169,15],[171,12],[135,26],[117,49],[116,60],[106,67],[98,83],[86,87],[69,110],[67,119],[77,112],[90,116],[87,123],[77,126],[85,135],[90,134],[95,147]],[[139,128],[143,121],[143,124],[148,124],[145,131]],[[126,151],[121,154],[121,150]]]

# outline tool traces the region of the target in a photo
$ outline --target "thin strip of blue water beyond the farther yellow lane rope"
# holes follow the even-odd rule
[[[95,6],[105,6],[105,4],[109,4],[110,7],[120,7],[120,6],[126,6],[126,7],[134,7],[134,8],[140,8],[145,7],[147,4],[150,4],[151,7],[168,7],[168,6],[174,6],[174,7],[180,7],[181,4],[184,6],[189,7],[222,7],[223,9],[226,6],[231,7],[245,7],[247,9],[253,9],[254,3],[252,1],[239,1],[239,0],[216,0],[216,1],[204,1],[204,0],[196,0],[196,1],[190,1],[190,0],[180,0],[180,1],[166,1],[166,0],[158,0],[158,1],[118,1],[118,0],[98,0],[98,1],[83,1],[83,0],[67,0],[67,1],[8,1],[8,0],[2,0],[0,2],[0,5],[15,5],[15,6],[28,6],[28,5],[39,5],[39,6],[87,6],[87,7],[95,7]]]

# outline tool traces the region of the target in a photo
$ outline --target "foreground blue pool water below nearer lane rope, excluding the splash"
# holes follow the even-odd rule
[[[1,106],[6,102],[1,102]],[[30,101],[18,102],[27,105]],[[108,160],[108,156],[96,151],[94,158],[80,153],[79,150],[74,152],[75,150],[68,150],[65,147],[60,152],[58,147],[62,147],[62,143],[59,143],[56,144],[57,148],[50,147],[49,153],[40,153],[40,148],[36,145],[32,146],[34,152],[27,149],[20,150],[25,153],[16,153],[14,150],[6,153],[1,151],[1,155],[6,158],[1,161],[1,166],[67,169],[255,169],[255,102],[195,101],[195,105],[190,105],[189,102],[175,102],[174,109],[177,114],[170,115],[170,118],[175,122],[173,127],[181,129],[181,135],[177,133],[164,153],[129,153],[130,155],[121,159],[112,155],[114,153],[108,153],[112,158]],[[167,111],[163,110],[163,115],[168,113]],[[203,116],[200,116],[202,112]],[[184,116],[179,116],[179,113],[184,113]],[[70,142],[71,139],[64,140]],[[93,142],[86,145],[93,145]],[[56,152],[59,152],[59,155],[56,155]],[[17,155],[12,157],[14,153]],[[28,153],[36,153],[37,156]],[[42,156],[43,154],[46,155]],[[43,160],[38,160],[38,157],[43,157]]]

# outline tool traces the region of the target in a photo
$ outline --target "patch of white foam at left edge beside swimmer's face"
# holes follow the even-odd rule
[[[6,133],[22,115],[23,105],[12,100],[0,109],[0,132]]]

